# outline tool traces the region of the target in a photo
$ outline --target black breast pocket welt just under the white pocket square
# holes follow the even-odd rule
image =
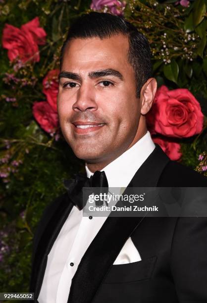
[[[150,279],[156,259],[156,256],[152,256],[137,262],[112,265],[103,283],[129,283]]]

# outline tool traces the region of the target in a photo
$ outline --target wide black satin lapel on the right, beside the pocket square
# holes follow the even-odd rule
[[[128,187],[155,187],[169,158],[156,145]],[[143,217],[108,217],[81,259],[67,303],[91,303],[126,240]]]

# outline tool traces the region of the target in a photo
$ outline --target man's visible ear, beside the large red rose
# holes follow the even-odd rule
[[[148,81],[143,85],[140,93],[142,115],[145,115],[151,109],[156,93],[156,88],[157,84],[155,78],[148,79]]]

